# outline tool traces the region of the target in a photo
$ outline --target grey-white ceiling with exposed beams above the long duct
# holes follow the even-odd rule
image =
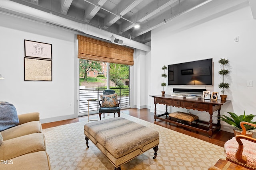
[[[134,41],[151,41],[151,30],[212,0],[10,0]],[[33,16],[31,16],[33,17]],[[134,25],[140,24],[140,28]]]

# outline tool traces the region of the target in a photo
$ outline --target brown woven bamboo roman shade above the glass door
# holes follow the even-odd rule
[[[133,49],[77,35],[78,58],[133,65]]]

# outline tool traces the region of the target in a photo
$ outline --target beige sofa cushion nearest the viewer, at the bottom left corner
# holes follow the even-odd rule
[[[7,160],[6,160],[7,161]],[[50,158],[45,151],[33,152],[8,160],[1,164],[3,170],[50,170]]]

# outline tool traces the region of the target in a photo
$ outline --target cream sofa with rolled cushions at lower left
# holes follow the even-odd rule
[[[0,132],[0,169],[51,169],[39,113],[18,118],[17,126]]]

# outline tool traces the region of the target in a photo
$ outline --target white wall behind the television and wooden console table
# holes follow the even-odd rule
[[[239,36],[240,41],[234,42]],[[222,106],[221,114],[232,111],[243,114],[256,114],[256,20],[252,18],[250,6],[246,0],[215,0],[187,14],[152,30],[151,84],[150,94],[160,94],[162,66],[168,64],[213,58],[214,86],[206,86],[209,91],[220,92],[218,84],[221,69],[218,60],[230,60],[230,76],[227,77],[230,88],[226,90],[230,104]],[[252,80],[254,87],[246,87],[246,81]],[[154,87],[154,88],[153,88]],[[203,86],[204,87],[204,86]],[[173,88],[202,88],[202,86],[167,86],[166,94],[172,94]],[[219,97],[220,99],[220,97]],[[165,107],[159,106],[164,112]],[[172,107],[172,111],[180,108]],[[154,101],[151,100],[154,112]],[[208,114],[192,111],[208,120]],[[214,115],[217,115],[216,113]],[[256,121],[256,119],[254,119]],[[221,122],[222,130],[231,131],[230,126]]]

